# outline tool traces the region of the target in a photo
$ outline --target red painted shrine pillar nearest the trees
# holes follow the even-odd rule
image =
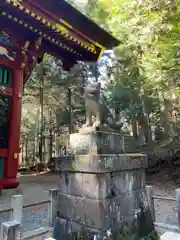
[[[20,68],[13,69],[8,159],[5,169],[5,188],[14,188],[19,184],[17,172],[19,165],[22,92],[23,70]]]

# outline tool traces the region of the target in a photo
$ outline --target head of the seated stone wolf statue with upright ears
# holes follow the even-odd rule
[[[95,98],[96,100],[98,100],[100,97],[100,90],[101,90],[100,82],[95,83],[89,82],[84,89],[85,97],[93,99]]]

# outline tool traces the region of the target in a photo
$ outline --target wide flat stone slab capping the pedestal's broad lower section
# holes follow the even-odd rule
[[[66,161],[59,161],[59,172],[108,173],[147,167],[144,154],[75,155]]]

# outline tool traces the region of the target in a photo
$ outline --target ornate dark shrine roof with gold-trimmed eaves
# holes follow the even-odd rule
[[[77,61],[97,61],[106,48],[119,44],[64,0],[0,0],[0,29],[16,44],[39,41],[38,53],[31,55],[49,53],[67,69]]]

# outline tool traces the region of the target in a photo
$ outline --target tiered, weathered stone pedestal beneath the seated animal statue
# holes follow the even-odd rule
[[[98,138],[78,134],[71,138],[70,146],[76,155],[59,162],[55,239],[77,232],[103,239],[111,232],[119,236],[117,239],[134,235],[133,239],[139,240],[152,232],[145,190],[147,159],[142,154],[119,154],[119,139],[110,134],[107,138],[112,141],[107,145],[102,144],[103,134]]]

